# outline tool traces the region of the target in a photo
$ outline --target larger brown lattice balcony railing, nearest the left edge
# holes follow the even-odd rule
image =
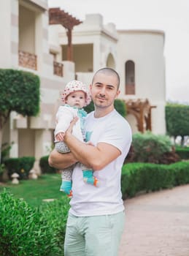
[[[19,66],[26,67],[28,69],[37,69],[37,57],[35,54],[26,53],[23,50],[19,50]]]

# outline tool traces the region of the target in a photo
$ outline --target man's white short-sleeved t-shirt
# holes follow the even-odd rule
[[[109,143],[118,148],[121,154],[102,170],[94,171],[93,174],[99,179],[100,187],[85,184],[80,164],[74,167],[73,197],[69,212],[77,217],[116,214],[124,209],[120,177],[123,161],[131,146],[131,127],[125,118],[116,110],[112,110],[101,118],[94,118],[93,112],[88,114],[85,130],[86,137],[94,146],[99,142]]]

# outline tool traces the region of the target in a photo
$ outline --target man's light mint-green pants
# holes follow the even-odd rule
[[[125,212],[95,217],[69,214],[64,243],[65,256],[117,256]]]

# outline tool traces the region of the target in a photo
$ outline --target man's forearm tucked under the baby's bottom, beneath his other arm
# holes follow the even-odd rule
[[[53,166],[57,169],[64,169],[66,167],[74,165],[78,161],[71,152],[61,154],[58,153],[58,151],[56,151],[55,149],[53,149],[53,151],[50,153],[48,162],[50,166]]]

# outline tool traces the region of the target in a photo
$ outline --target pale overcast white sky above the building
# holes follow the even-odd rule
[[[189,0],[48,0],[85,20],[99,13],[116,29],[157,29],[165,33],[166,99],[189,104]]]

